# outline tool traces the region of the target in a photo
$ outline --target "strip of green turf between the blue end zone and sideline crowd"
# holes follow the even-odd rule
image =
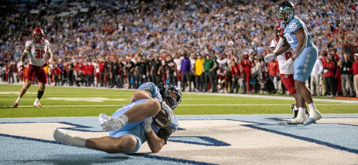
[[[40,100],[43,107],[37,108],[32,107],[32,104],[37,96],[38,87],[31,86],[19,107],[12,108],[20,89],[20,85],[0,85],[0,118],[98,116],[100,113],[111,115],[129,103],[129,98],[134,93],[134,90],[47,86]],[[174,114],[283,114],[291,113],[290,105],[294,103],[294,100],[287,100],[290,96],[242,96],[183,93],[182,103]],[[315,104],[321,113],[358,113],[358,104],[354,101],[349,103],[342,100],[320,99],[315,101]]]

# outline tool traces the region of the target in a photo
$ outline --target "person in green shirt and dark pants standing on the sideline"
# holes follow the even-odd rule
[[[206,59],[203,64],[203,70],[204,70],[204,79],[205,79],[205,85],[203,91],[206,92],[208,89],[208,83],[210,80],[211,84],[211,90],[209,92],[215,91],[215,86],[213,82],[213,71],[217,67],[216,62],[210,58],[209,55],[206,55]]]

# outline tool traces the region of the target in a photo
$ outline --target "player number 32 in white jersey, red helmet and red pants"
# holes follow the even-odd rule
[[[47,75],[44,67],[52,61],[52,53],[49,46],[50,44],[48,40],[44,39],[44,37],[44,31],[41,28],[36,28],[32,31],[33,39],[26,41],[25,50],[20,57],[20,71],[22,73],[25,72],[24,61],[27,55],[30,57],[30,64],[26,74],[25,84],[21,88],[19,97],[13,105],[14,108],[18,107],[21,97],[23,97],[27,89],[29,89],[35,76],[37,77],[37,82],[39,83],[39,91],[37,92],[37,97],[33,106],[41,107],[39,100],[44,94],[45,84],[47,83]],[[45,54],[47,54],[48,60],[45,60]]]

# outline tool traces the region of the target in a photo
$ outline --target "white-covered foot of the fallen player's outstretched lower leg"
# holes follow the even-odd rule
[[[68,134],[67,132],[59,128],[57,128],[53,132],[53,138],[56,141],[61,142],[63,144],[67,144],[69,146],[84,147],[84,145],[86,144],[86,139],[72,134]]]

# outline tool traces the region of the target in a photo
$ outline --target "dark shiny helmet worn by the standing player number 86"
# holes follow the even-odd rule
[[[284,1],[277,9],[277,17],[281,23],[289,22],[295,15],[295,5],[290,1]]]

